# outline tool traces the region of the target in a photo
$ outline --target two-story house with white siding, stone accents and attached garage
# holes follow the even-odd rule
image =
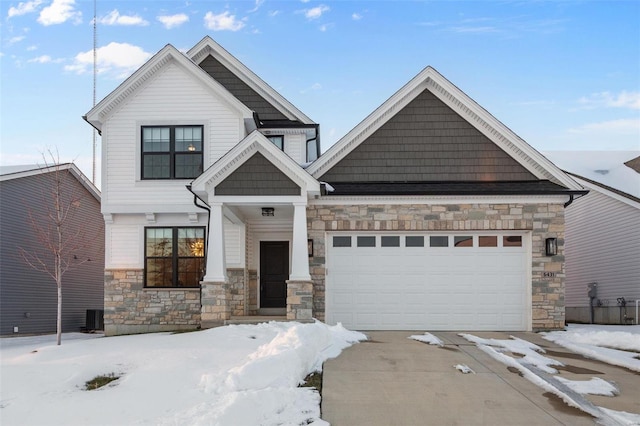
[[[103,143],[107,334],[285,314],[564,325],[582,187],[433,68],[320,157],[319,125],[209,37],[167,45],[85,119]]]

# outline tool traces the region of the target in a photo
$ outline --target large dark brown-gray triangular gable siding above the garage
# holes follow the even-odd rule
[[[536,177],[425,90],[320,180],[522,181]]]

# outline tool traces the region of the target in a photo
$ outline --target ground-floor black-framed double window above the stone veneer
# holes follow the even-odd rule
[[[145,228],[145,287],[198,287],[204,276],[204,231]]]

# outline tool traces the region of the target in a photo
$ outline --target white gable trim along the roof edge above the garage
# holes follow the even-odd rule
[[[318,160],[312,163],[307,168],[307,171],[316,178],[322,176],[424,90],[429,90],[433,93],[498,147],[511,154],[514,160],[518,161],[539,179],[549,179],[569,189],[581,189],[562,170],[432,67],[422,70],[394,93],[353,130],[329,148]]]

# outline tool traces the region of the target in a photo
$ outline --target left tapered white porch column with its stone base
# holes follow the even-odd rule
[[[200,283],[200,325],[202,328],[223,325],[231,318],[231,290],[224,257],[224,222],[222,203],[211,203],[207,274]]]

